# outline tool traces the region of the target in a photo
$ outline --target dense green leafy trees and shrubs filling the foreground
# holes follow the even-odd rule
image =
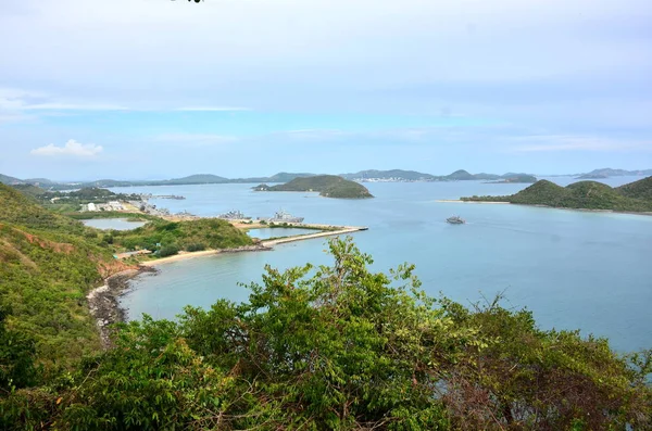
[[[650,429],[650,353],[542,331],[527,310],[466,309],[412,266],[266,268],[247,303],[123,325],[55,384],[4,393],[0,427],[102,430]],[[311,276],[312,274],[312,276]]]

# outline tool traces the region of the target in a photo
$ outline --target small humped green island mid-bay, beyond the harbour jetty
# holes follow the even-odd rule
[[[319,195],[336,199],[374,198],[366,187],[338,177],[337,175],[317,175],[306,178],[294,178],[285,185],[267,186],[262,183],[253,188],[255,191],[318,191]]]

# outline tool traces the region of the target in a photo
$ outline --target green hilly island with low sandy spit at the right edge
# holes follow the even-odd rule
[[[652,177],[612,188],[597,181],[579,181],[561,187],[548,180],[507,197],[461,198],[464,202],[509,202],[557,208],[652,212]]]

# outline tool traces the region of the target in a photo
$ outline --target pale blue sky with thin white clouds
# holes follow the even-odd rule
[[[652,168],[649,0],[0,1],[0,174]]]

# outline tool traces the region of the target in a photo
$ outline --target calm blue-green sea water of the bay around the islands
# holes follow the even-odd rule
[[[551,178],[567,185],[572,178]],[[617,186],[639,178],[613,178]],[[505,292],[505,305],[531,309],[542,328],[581,329],[622,351],[652,347],[652,217],[502,204],[442,203],[472,194],[510,194],[527,185],[479,181],[367,183],[376,199],[331,200],[315,193],[253,192],[252,185],[170,186],[116,191],[181,194],[160,201],[173,212],[217,215],[238,208],[271,216],[284,208],[306,223],[368,226],[353,234],[374,269],[409,262],[423,288],[463,304]],[[164,189],[164,190],[163,190]],[[456,214],[466,225],[449,225]],[[225,254],[161,265],[122,299],[129,318],[173,318],[184,305],[247,300],[239,282],[260,281],[265,264],[327,264],[325,240],[271,252]]]

